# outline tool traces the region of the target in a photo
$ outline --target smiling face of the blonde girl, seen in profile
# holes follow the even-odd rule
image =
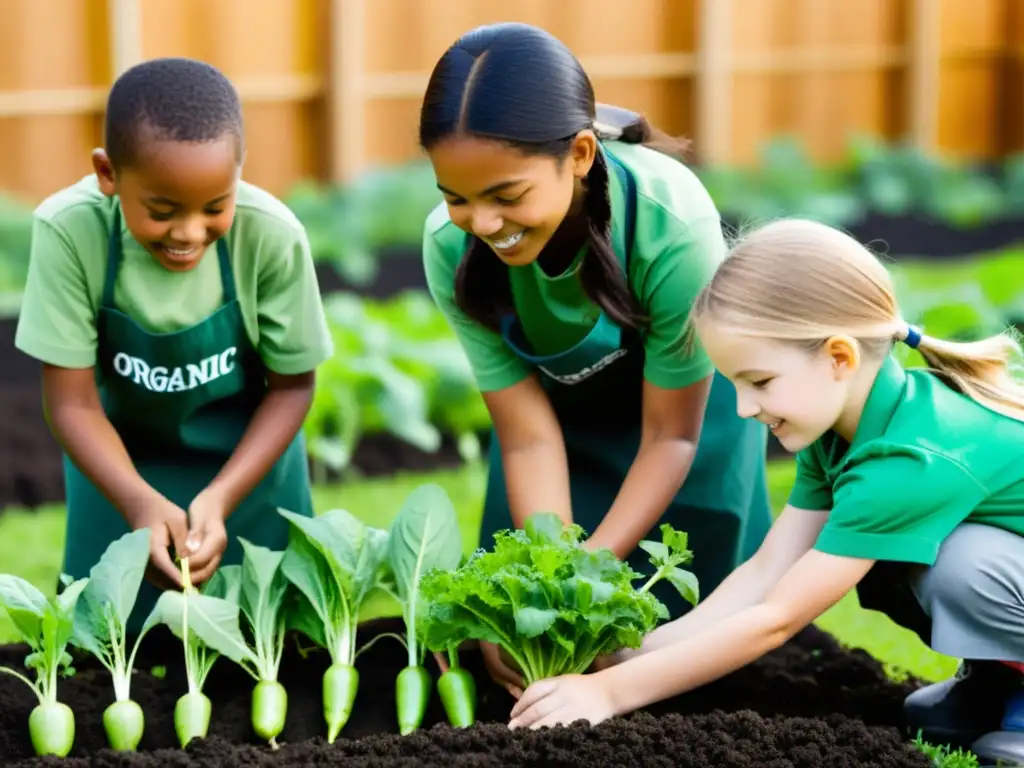
[[[722,331],[711,322],[699,324],[697,335],[715,368],[735,386],[737,414],[767,424],[786,451],[798,453],[828,430],[853,439],[870,386],[855,342],[833,337],[807,351]]]

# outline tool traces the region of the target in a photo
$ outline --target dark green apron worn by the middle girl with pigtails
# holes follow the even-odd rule
[[[610,154],[605,158],[626,190],[626,225],[614,227],[612,239],[628,274],[636,187],[628,169]],[[603,312],[586,338],[557,354],[532,354],[513,316],[504,318],[502,335],[520,358],[542,374],[565,437],[573,521],[593,534],[611,508],[640,446],[643,340],[637,333],[624,332]],[[663,522],[689,534],[694,557],[686,567],[699,579],[701,596],[754,554],[771,526],[766,446],[765,426],[736,415],[735,389],[716,374],[693,467],[646,537],[660,541]],[[512,525],[501,449],[494,432],[488,463],[480,527],[483,547],[492,545],[496,530]],[[647,553],[639,548],[628,562],[641,573],[652,572]],[[674,617],[690,607],[667,582],[653,592]]]

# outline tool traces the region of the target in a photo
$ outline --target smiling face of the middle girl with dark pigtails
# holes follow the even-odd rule
[[[453,223],[510,266],[535,261],[582,200],[597,151],[590,131],[559,160],[504,142],[456,136],[428,153]]]

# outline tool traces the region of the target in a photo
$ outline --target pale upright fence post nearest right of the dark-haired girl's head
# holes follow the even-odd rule
[[[697,13],[696,154],[724,163],[732,154],[732,0],[701,0]]]

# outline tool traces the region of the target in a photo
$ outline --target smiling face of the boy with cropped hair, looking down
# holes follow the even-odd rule
[[[104,195],[118,195],[125,225],[166,269],[187,271],[234,220],[242,166],[232,136],[205,142],[150,137],[137,161],[115,170],[105,153],[93,154]]]

